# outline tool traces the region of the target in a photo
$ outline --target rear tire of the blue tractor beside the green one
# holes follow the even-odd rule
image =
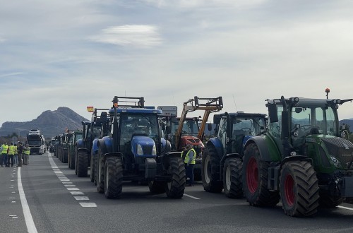
[[[220,193],[223,190],[223,184],[220,180],[220,157],[213,145],[205,149],[202,157],[202,184],[205,191],[211,193]]]

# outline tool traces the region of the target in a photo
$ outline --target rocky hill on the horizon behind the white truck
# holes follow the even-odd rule
[[[82,129],[81,121],[88,121],[68,107],[59,107],[54,111],[47,110],[40,114],[37,119],[27,122],[5,122],[0,129],[0,136],[20,133],[25,136],[30,129],[39,129],[45,138],[51,138],[59,133],[64,133],[66,129]]]

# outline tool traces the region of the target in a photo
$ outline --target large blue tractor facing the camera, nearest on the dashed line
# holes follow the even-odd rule
[[[95,160],[97,191],[106,198],[119,198],[123,181],[148,182],[152,193],[165,192],[169,198],[184,195],[184,162],[161,136],[161,113],[144,107],[143,97],[114,97],[110,134],[98,140]]]

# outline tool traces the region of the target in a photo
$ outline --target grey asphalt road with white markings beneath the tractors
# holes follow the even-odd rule
[[[201,183],[179,200],[124,183],[120,199],[97,193],[54,154],[30,165],[0,167],[0,232],[352,232],[353,205],[288,217],[282,207],[256,208],[245,199],[207,193]]]

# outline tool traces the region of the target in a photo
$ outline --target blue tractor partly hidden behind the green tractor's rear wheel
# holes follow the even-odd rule
[[[213,116],[215,138],[205,145],[202,157],[203,189],[228,198],[242,198],[242,165],[244,145],[252,136],[265,131],[266,114],[223,113]]]

